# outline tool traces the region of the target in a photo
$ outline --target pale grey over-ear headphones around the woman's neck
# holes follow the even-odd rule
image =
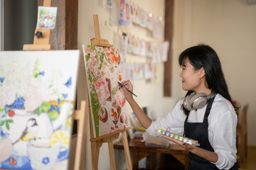
[[[188,110],[196,110],[198,108],[203,108],[208,103],[208,100],[210,98],[213,98],[216,94],[210,93],[209,96],[203,93],[196,94],[195,91],[193,91],[192,94],[186,96],[183,101],[183,106]]]

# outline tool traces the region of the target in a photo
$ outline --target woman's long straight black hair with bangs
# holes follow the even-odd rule
[[[225,82],[225,77],[223,70],[221,68],[220,60],[217,53],[212,47],[208,45],[196,45],[189,47],[188,49],[181,52],[178,57],[178,64],[182,67],[185,64],[185,60],[188,58],[190,64],[196,69],[201,69],[203,67],[206,73],[206,82],[208,84],[208,89],[211,89],[215,94],[220,94],[226,98],[230,103],[232,99],[228,92],[228,86]],[[188,91],[186,96],[191,94],[193,91]],[[184,113],[187,115],[189,111],[183,107]],[[235,109],[238,109],[233,105]]]

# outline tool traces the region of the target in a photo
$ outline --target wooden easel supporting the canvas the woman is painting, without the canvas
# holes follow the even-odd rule
[[[102,47],[112,47],[110,43],[100,38],[100,27],[99,27],[99,20],[97,14],[93,15],[93,22],[95,27],[95,38],[91,39],[91,44],[95,46],[102,46]],[[89,97],[87,97],[89,99]],[[102,135],[100,137],[94,137],[93,136],[93,127],[92,127],[92,115],[90,113],[89,109],[89,119],[90,119],[90,142],[91,142],[91,152],[92,152],[92,169],[97,170],[98,160],[99,160],[99,154],[100,154],[100,147],[104,142],[107,142],[108,149],[109,149],[109,155],[110,155],[110,166],[111,169],[116,169],[115,165],[115,159],[114,159],[114,146],[113,146],[113,140],[116,140],[119,137],[119,134],[122,133],[122,142],[124,145],[124,154],[125,159],[127,162],[127,169],[132,170],[132,162],[131,157],[129,154],[129,145],[127,140],[127,130],[132,129],[132,127],[125,128],[123,130],[118,130],[116,132],[112,132],[107,135]]]

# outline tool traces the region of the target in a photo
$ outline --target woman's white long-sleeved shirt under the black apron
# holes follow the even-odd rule
[[[158,136],[158,129],[166,130],[171,128],[171,132],[183,135],[184,121],[186,115],[181,108],[183,99],[176,103],[174,109],[165,117],[157,118],[151,123],[146,132],[152,136]],[[206,113],[206,106],[190,111],[188,123],[203,123]],[[218,169],[230,169],[236,162],[236,126],[238,116],[232,104],[220,94],[215,96],[213,106],[208,116],[208,140],[216,154],[218,161],[213,163]]]

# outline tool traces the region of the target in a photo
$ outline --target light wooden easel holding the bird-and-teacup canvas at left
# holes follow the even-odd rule
[[[44,0],[43,6],[51,6],[51,0]],[[41,32],[42,37],[37,38],[36,33]],[[50,29],[36,29],[33,39],[33,44],[23,45],[23,50],[53,50],[50,45]],[[75,164],[74,169],[81,169],[81,158],[82,152],[84,150],[84,141],[85,141],[85,113],[86,112],[86,102],[81,101],[80,110],[75,110],[73,113],[74,120],[78,120],[78,133],[73,135],[77,138],[76,149],[75,149]]]

